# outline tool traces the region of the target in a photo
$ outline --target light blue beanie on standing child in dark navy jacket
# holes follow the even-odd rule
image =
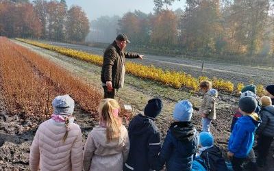
[[[179,121],[190,121],[192,112],[192,104],[188,100],[179,101],[175,105],[175,109],[173,111],[173,118]]]

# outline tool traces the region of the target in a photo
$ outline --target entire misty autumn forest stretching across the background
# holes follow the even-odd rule
[[[109,43],[125,33],[129,48],[142,53],[273,66],[273,0],[186,0],[170,10],[174,1],[153,0],[149,14],[135,10],[89,22],[66,0],[0,0],[0,36]]]

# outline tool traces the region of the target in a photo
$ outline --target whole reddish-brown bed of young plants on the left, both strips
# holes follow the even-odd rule
[[[103,98],[100,90],[73,77],[65,68],[3,37],[0,37],[0,87],[12,113],[23,112],[40,120],[49,118],[53,112],[51,102],[60,94],[72,96],[92,116],[97,116]],[[129,115],[122,109],[123,118],[130,118]]]

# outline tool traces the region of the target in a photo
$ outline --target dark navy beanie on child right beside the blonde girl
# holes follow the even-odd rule
[[[158,116],[158,114],[160,114],[161,110],[162,110],[161,99],[153,98],[147,102],[147,105],[144,109],[144,114],[145,114],[145,116],[156,118],[156,116]]]

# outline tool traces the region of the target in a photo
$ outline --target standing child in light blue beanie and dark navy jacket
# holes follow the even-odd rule
[[[167,171],[191,170],[193,156],[196,153],[199,133],[191,123],[192,104],[179,101],[175,105],[173,118],[160,152],[161,168],[166,163]]]

